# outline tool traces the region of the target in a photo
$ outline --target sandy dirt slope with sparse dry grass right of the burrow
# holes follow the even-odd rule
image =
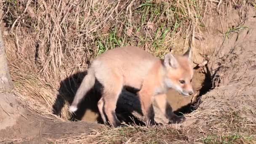
[[[239,20],[233,12],[234,16],[227,23],[234,24]],[[239,143],[253,143],[251,139],[255,140],[256,12],[252,10],[246,15],[243,25],[248,28],[231,33],[224,42],[218,43],[218,35],[210,39],[217,45],[216,58],[210,60],[209,66],[213,74],[216,72],[213,81],[218,85],[202,96],[202,103],[188,115],[189,120],[184,125],[196,130],[196,135],[204,136],[208,143],[219,139]],[[216,24],[218,28],[220,26]],[[197,137],[195,131],[190,134]]]

